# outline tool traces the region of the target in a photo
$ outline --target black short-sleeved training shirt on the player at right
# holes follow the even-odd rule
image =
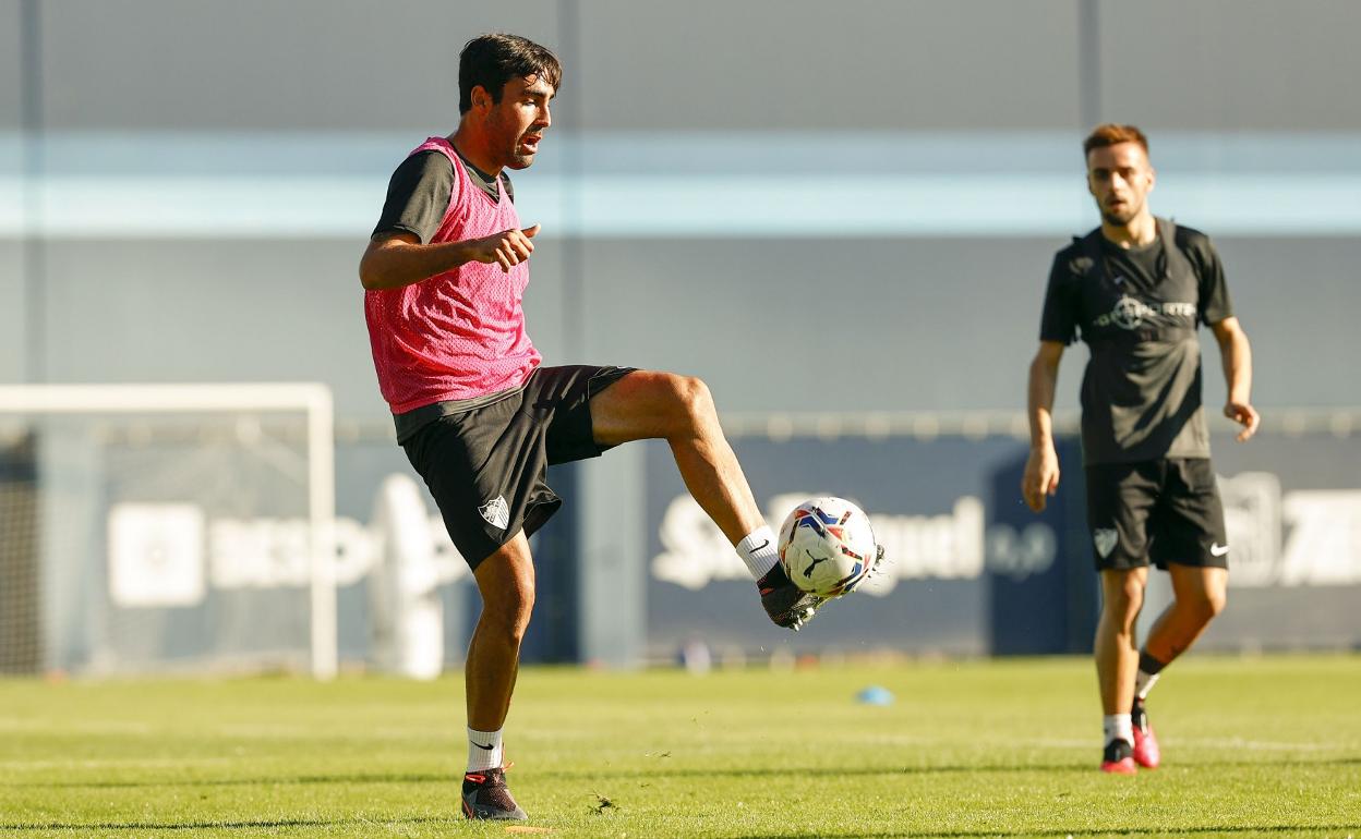
[[[1210,457],[1196,328],[1232,314],[1209,237],[1158,219],[1158,238],[1123,249],[1100,228],[1055,256],[1040,340],[1092,349],[1082,378],[1087,465]]]

